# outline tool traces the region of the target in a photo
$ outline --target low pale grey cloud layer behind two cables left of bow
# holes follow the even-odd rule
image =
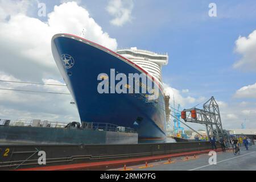
[[[18,78],[0,72],[0,78],[20,81]],[[62,84],[58,80],[43,79],[43,83]],[[34,90],[39,92],[69,93],[66,86],[18,84],[0,82],[0,88]],[[71,95],[18,92],[0,89],[0,118],[1,119],[48,119],[49,121],[79,121],[74,105],[70,105]]]

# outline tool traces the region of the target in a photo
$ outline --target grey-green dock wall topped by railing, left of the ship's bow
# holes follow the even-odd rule
[[[8,142],[37,144],[132,144],[138,143],[138,134],[51,127],[0,126],[0,143]]]

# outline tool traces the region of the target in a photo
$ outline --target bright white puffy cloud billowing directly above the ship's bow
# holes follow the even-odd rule
[[[76,2],[55,6],[54,11],[48,14],[48,24],[55,32],[70,32],[75,35],[81,35],[84,29],[86,39],[113,50],[117,48],[117,41],[103,32],[88,11]]]

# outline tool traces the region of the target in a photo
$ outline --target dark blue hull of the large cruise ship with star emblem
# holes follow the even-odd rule
[[[53,36],[52,53],[81,122],[113,123],[136,129],[140,140],[166,140],[164,96],[156,82],[159,97],[152,101],[139,93],[98,93],[100,73],[110,75],[110,69],[115,69],[116,74],[141,74],[145,72],[142,68],[105,47],[69,34]],[[72,59],[68,65],[63,56]]]

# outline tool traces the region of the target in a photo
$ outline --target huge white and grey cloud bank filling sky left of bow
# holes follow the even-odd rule
[[[55,6],[42,22],[26,13],[32,1],[0,1],[0,79],[64,84],[51,53],[51,38],[65,32],[81,35],[110,49],[117,41],[76,2]],[[9,8],[10,7],[10,8]],[[13,7],[14,9],[11,9]],[[4,11],[2,11],[4,10]],[[0,82],[0,88],[69,93],[65,86]],[[0,90],[0,118],[79,121],[71,95]]]

